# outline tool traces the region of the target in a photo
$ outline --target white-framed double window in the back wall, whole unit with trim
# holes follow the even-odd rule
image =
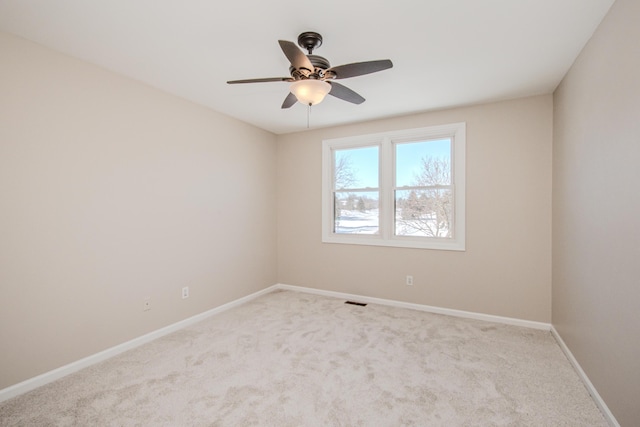
[[[464,250],[465,124],[323,141],[322,241]]]

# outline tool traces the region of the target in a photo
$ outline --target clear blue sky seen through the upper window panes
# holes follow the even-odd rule
[[[421,159],[425,156],[451,159],[451,140],[436,139],[423,142],[396,144],[396,185],[412,185],[414,176],[420,171]],[[378,187],[378,147],[352,148],[335,151],[336,162],[348,157],[357,177],[356,187]]]

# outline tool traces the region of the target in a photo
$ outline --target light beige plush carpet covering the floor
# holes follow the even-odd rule
[[[0,404],[2,426],[606,426],[549,332],[291,291]]]

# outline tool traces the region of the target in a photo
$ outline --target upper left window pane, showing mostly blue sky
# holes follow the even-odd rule
[[[335,189],[378,188],[378,147],[334,151]]]

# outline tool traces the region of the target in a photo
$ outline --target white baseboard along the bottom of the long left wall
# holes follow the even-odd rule
[[[20,394],[31,391],[35,388],[41,387],[45,384],[53,382],[57,379],[60,379],[64,376],[77,372],[83,368],[89,367],[96,363],[102,362],[103,360],[114,357],[120,353],[124,353],[125,351],[131,350],[133,348],[139,347],[143,344],[146,344],[150,341],[158,339],[164,335],[168,335],[172,332],[175,332],[179,329],[185,328],[189,325],[193,325],[194,323],[200,322],[201,320],[206,319],[207,317],[213,316],[215,314],[221,313],[223,311],[229,310],[230,308],[237,307],[242,305],[254,298],[257,298],[261,295],[267,294],[269,292],[274,291],[277,288],[276,285],[265,288],[261,291],[254,292],[245,297],[239,298],[237,300],[228,302],[211,310],[205,311],[200,314],[196,314],[195,316],[189,317],[187,319],[176,322],[172,325],[166,326],[164,328],[155,330],[148,334],[142,335],[138,338],[134,338],[131,341],[124,342],[122,344],[116,345],[114,347],[108,348],[99,353],[93,354],[91,356],[85,357],[83,359],[77,360],[75,362],[69,363],[68,365],[61,366],[60,368],[54,369],[49,372],[45,372],[44,374],[38,375],[37,377],[30,378],[18,384],[14,384],[7,388],[0,390],[0,402],[4,402],[5,400],[11,399],[12,397],[18,396]]]

